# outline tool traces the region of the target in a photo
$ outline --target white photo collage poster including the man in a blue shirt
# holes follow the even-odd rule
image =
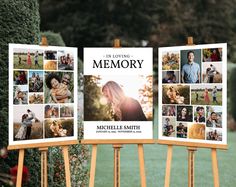
[[[227,45],[159,48],[162,140],[227,144]]]

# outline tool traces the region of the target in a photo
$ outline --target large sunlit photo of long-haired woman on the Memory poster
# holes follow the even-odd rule
[[[153,92],[150,75],[86,75],[85,121],[152,121]]]

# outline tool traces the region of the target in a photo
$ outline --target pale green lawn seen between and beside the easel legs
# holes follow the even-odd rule
[[[154,129],[157,130],[157,129]],[[156,137],[155,137],[156,138]],[[164,186],[167,156],[165,145],[144,145],[147,187]],[[220,186],[236,184],[236,133],[228,132],[228,150],[218,152]],[[213,186],[211,150],[199,149],[195,159],[195,186]],[[171,187],[188,185],[188,154],[185,147],[173,149]],[[137,145],[125,145],[121,149],[121,187],[140,186]],[[113,186],[112,145],[99,145],[97,153],[96,187]]]

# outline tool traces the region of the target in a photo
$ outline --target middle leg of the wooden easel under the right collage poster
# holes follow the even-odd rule
[[[196,148],[188,148],[188,187],[194,187],[194,153],[196,150]]]

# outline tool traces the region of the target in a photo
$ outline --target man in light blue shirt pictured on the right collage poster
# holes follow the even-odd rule
[[[187,53],[188,63],[182,67],[181,79],[183,83],[200,82],[200,66],[194,62],[194,52]]]

